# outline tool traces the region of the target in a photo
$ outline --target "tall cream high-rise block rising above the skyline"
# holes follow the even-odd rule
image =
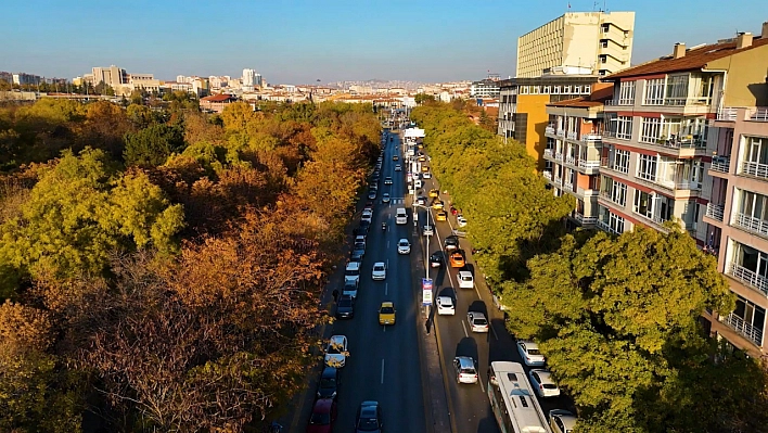
[[[558,66],[610,75],[629,67],[635,12],[568,12],[517,38],[517,78]]]

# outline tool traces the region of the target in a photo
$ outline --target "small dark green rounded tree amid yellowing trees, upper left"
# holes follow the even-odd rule
[[[127,165],[156,167],[165,164],[172,153],[184,150],[184,135],[179,125],[152,124],[136,132],[126,133]]]

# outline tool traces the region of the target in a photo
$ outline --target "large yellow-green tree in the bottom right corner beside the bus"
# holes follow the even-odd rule
[[[731,431],[755,408],[747,399],[765,402],[757,365],[715,357],[702,332],[701,313],[731,310],[733,296],[686,232],[567,235],[528,268],[528,281],[504,284],[507,323],[517,338],[540,342],[579,407],[583,431]],[[737,368],[748,373],[730,381],[716,373]]]

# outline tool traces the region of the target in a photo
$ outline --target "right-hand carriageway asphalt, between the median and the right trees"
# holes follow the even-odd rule
[[[426,191],[439,186],[436,179],[425,181],[422,189],[423,195]],[[446,206],[450,203],[450,198],[443,194],[440,199]],[[419,216],[420,225],[427,220],[427,211],[421,209]],[[471,222],[471,221],[470,221]],[[451,234],[453,228],[458,229],[456,218],[448,213],[448,220],[443,222],[432,222],[436,226],[435,237],[431,237],[426,257],[435,251],[440,251],[446,237]],[[425,243],[425,239],[421,242]],[[465,239],[460,240],[460,247],[466,253],[468,264],[474,267],[472,259],[472,246]],[[499,311],[491,300],[490,292],[484,281],[477,281],[483,277],[477,272],[475,275],[474,289],[459,289],[457,280],[458,269],[450,267],[441,267],[439,270],[431,270],[431,277],[434,279],[435,294],[434,297],[440,295],[449,295],[453,298],[456,305],[456,316],[434,316],[435,329],[437,332],[443,369],[447,372],[446,386],[449,398],[449,405],[452,407],[451,421],[456,433],[496,433],[499,428],[490,409],[488,397],[485,394],[488,384],[487,370],[491,361],[512,360],[523,362],[517,353],[514,339],[509,334],[504,327],[503,313]],[[486,333],[473,333],[466,322],[466,313],[483,311],[489,320],[490,330]],[[478,384],[459,384],[457,383],[453,372],[453,358],[456,356],[471,356],[477,362],[477,370],[481,377]],[[529,368],[524,367],[526,371]],[[558,398],[539,398],[545,413],[550,409],[567,408],[568,402],[565,397]]]

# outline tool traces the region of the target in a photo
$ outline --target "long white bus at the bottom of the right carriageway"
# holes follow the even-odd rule
[[[487,390],[501,433],[552,433],[523,365],[490,362]]]

